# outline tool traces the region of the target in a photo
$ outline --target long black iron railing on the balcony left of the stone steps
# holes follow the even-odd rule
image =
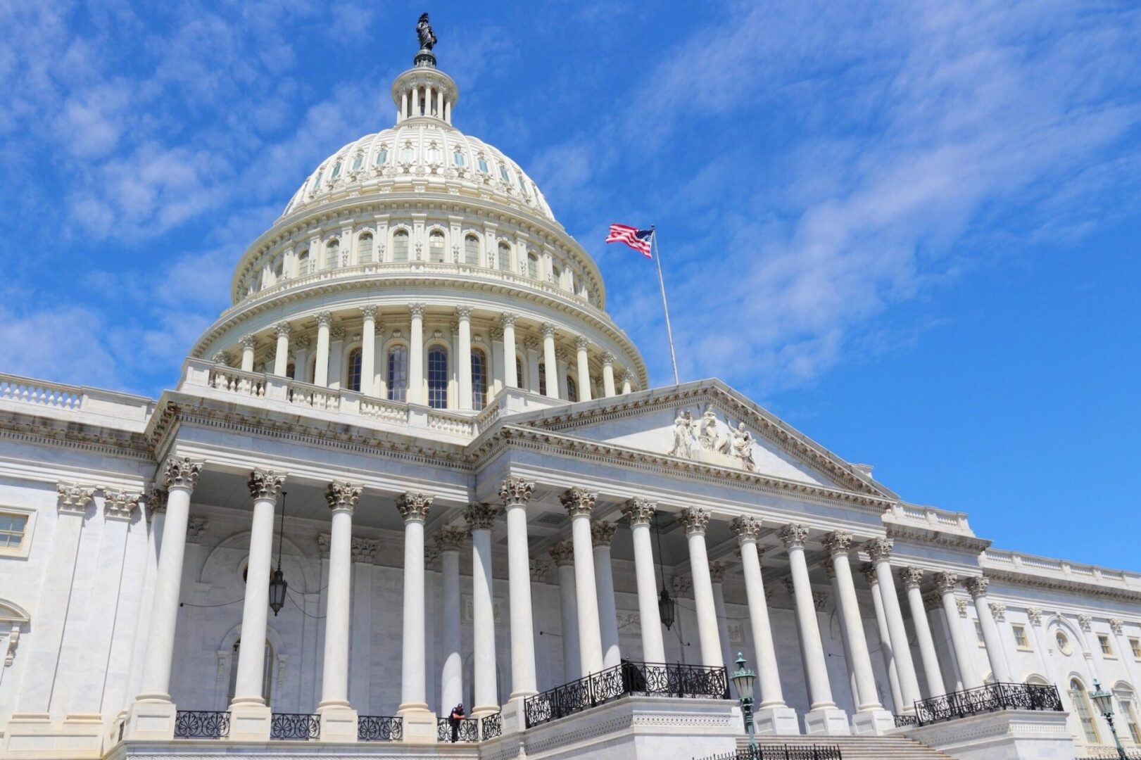
[[[725,668],[623,662],[527,697],[523,710],[531,728],[628,694],[728,700],[729,681]]]

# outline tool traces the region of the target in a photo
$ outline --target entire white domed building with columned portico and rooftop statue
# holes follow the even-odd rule
[[[747,717],[771,757],[1069,760],[1103,703],[1141,746],[1141,575],[650,388],[419,33],[176,389],[0,374],[0,758],[697,758]]]

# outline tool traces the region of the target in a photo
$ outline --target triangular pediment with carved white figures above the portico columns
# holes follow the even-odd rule
[[[718,468],[896,498],[720,380],[560,405],[510,422]]]

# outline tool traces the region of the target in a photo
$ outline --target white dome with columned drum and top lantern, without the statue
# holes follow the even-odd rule
[[[572,402],[645,388],[597,265],[519,164],[453,127],[459,89],[435,55],[391,97],[395,126],[321,162],[245,251],[192,358],[311,397],[456,411],[509,387]]]

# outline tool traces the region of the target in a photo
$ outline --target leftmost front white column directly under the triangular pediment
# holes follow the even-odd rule
[[[535,484],[507,477],[500,498],[507,512],[508,587],[511,608],[511,700],[536,694],[535,623],[531,609],[531,556],[527,552],[527,500]]]

